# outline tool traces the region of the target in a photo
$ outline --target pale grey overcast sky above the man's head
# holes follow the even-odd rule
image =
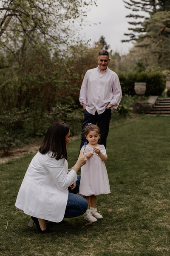
[[[91,39],[91,44],[94,41],[99,41],[103,35],[113,52],[127,53],[133,44],[131,42],[122,43],[121,40],[125,39],[123,34],[128,32],[129,24],[125,16],[130,13],[130,10],[125,8],[122,0],[97,0],[96,2],[98,6],[92,6],[91,11],[88,12],[91,26],[85,26],[81,34],[86,40]]]

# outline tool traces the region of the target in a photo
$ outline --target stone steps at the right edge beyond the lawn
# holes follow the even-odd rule
[[[147,114],[170,115],[170,98],[159,99]]]

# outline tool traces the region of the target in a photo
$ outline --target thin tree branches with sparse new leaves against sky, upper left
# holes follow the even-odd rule
[[[61,49],[75,40],[70,24],[79,19],[82,25],[86,9],[95,1],[0,0],[0,48],[8,49],[18,62],[28,46],[39,52],[44,45]]]

